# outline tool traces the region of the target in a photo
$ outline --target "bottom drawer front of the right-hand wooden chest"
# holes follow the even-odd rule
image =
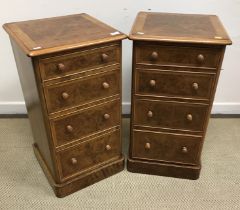
[[[201,136],[135,130],[132,156],[195,165],[199,163],[201,139]]]

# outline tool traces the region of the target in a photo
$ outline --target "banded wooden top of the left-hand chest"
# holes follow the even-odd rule
[[[7,23],[3,27],[29,56],[126,38],[118,30],[84,13]]]

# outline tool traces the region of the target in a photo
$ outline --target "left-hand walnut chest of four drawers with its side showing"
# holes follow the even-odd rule
[[[87,14],[4,25],[34,136],[34,152],[56,196],[124,167],[121,40]]]

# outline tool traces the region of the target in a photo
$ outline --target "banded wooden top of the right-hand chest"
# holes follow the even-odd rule
[[[215,15],[140,12],[129,37],[146,41],[231,44]]]

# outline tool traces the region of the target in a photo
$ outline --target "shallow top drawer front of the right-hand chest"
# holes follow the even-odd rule
[[[136,46],[136,63],[196,66],[216,68],[220,61],[219,48],[199,48],[164,45]]]

